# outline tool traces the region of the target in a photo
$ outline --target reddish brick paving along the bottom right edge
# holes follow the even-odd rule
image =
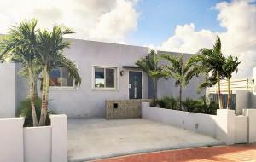
[[[95,162],[241,162],[256,161],[256,144],[222,146],[212,148],[190,148],[159,153],[143,153]]]

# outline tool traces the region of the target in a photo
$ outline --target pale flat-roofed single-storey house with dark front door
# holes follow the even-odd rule
[[[150,49],[79,39],[70,41],[72,45],[65,50],[65,55],[77,64],[82,84],[78,89],[64,68],[51,72],[49,108],[55,113],[65,113],[68,117],[103,116],[105,100],[152,98],[152,84],[147,74],[135,66],[135,62],[146,56]],[[189,58],[189,54],[184,54],[184,58]],[[20,101],[28,94],[26,78],[17,75],[19,69],[17,63],[0,64],[0,107],[4,107],[0,117],[13,116]],[[183,90],[183,98],[204,95],[204,92],[196,93],[196,86],[201,81],[202,78],[193,78]],[[160,79],[157,91],[159,98],[178,95],[178,89],[170,79]],[[9,109],[9,114],[4,113],[5,109]]]

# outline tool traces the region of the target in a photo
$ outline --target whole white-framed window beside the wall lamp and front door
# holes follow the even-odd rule
[[[94,88],[115,89],[116,88],[115,67],[94,67]]]

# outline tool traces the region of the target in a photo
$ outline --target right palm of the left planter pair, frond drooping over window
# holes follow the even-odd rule
[[[42,107],[39,125],[45,124],[49,96],[49,72],[55,67],[66,67],[69,76],[74,78],[78,85],[81,84],[78,68],[63,55],[63,50],[69,48],[70,43],[64,41],[63,36],[73,31],[64,26],[54,26],[51,31],[38,31],[38,58],[41,62],[43,73]]]

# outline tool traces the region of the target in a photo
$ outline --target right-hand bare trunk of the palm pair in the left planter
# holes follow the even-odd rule
[[[47,83],[48,83],[48,76],[47,76],[47,67],[44,67],[43,70],[43,90],[42,90],[42,106],[41,106],[41,115],[39,125],[44,126],[46,115],[47,115]]]

